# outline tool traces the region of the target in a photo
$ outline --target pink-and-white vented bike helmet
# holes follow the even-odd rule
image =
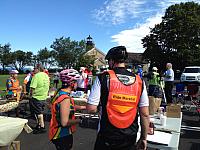
[[[65,69],[60,72],[60,80],[65,83],[76,81],[80,78],[80,74],[75,69]]]

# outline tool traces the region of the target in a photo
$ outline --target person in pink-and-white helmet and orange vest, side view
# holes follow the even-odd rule
[[[77,70],[65,69],[60,72],[62,87],[58,89],[51,100],[51,121],[49,127],[49,140],[57,150],[69,150],[73,146],[73,133],[75,125],[80,119],[75,118],[75,104],[71,91],[77,88],[80,75]]]

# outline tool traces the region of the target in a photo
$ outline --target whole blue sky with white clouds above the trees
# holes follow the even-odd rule
[[[0,0],[0,45],[34,54],[56,38],[93,38],[104,52],[124,45],[142,53],[141,39],[161,22],[166,8],[190,0]],[[200,3],[200,0],[193,0]]]

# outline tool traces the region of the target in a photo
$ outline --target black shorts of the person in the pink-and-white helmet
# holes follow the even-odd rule
[[[56,146],[57,150],[70,150],[73,146],[73,136],[68,135],[55,140],[52,143]]]

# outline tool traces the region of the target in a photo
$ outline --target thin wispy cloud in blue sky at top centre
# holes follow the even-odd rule
[[[141,9],[145,0],[110,0],[104,6],[94,11],[93,16],[98,23],[111,23],[117,25],[124,23],[128,16],[138,17],[138,14],[147,13],[150,9]]]

